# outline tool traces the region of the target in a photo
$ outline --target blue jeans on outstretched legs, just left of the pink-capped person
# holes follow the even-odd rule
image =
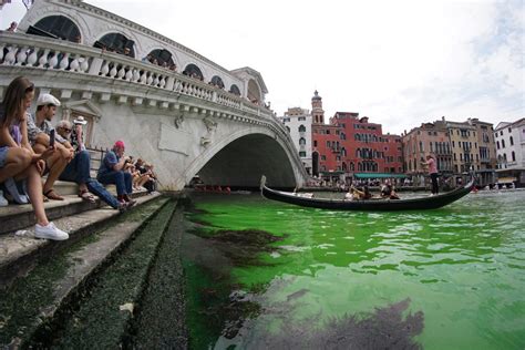
[[[102,200],[111,205],[113,208],[119,207],[119,200],[109,193],[96,179],[90,175],[91,159],[87,151],[76,153],[73,159],[68,164],[60,179],[69,181],[76,184],[85,184],[91,193],[99,196]]]

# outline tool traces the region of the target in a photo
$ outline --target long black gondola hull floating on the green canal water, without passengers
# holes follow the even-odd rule
[[[455,188],[451,192],[439,194],[435,196],[424,196],[408,199],[367,199],[367,200],[349,200],[349,199],[329,199],[329,198],[308,198],[290,192],[281,192],[268,188],[266,186],[266,176],[260,178],[261,195],[268,199],[300,205],[303,207],[312,207],[332,210],[378,210],[378,212],[395,212],[395,210],[426,210],[436,209],[449,205],[464,196],[466,196],[474,187],[474,176],[463,187]]]

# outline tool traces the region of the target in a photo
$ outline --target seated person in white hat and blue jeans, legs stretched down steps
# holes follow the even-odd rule
[[[96,179],[91,178],[91,157],[82,141],[82,125],[85,125],[87,122],[84,121],[83,117],[78,117],[73,123],[74,126],[70,121],[62,120],[56,124],[56,132],[59,135],[68,140],[74,148],[73,159],[68,164],[62,174],[60,174],[59,178],[76,183],[79,185],[79,197],[86,202],[94,202],[95,198],[91,194],[94,193],[112,208],[121,212],[125,210],[128,206],[126,203],[120,203],[116,200],[116,198],[109,193],[104,186],[102,186]]]

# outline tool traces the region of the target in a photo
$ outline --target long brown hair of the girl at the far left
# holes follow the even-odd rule
[[[11,125],[14,119],[24,113],[22,102],[28,92],[34,91],[34,84],[24,76],[16,78],[6,89],[3,94],[3,111],[4,117],[0,122],[0,127]]]

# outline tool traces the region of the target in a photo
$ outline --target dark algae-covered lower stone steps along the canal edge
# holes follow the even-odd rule
[[[0,320],[0,348],[49,348],[51,341],[65,348],[106,348],[102,344],[114,341],[109,348],[116,348],[175,206],[166,197],[141,205],[136,214],[124,214],[119,223],[40,262],[9,290],[0,291],[0,315],[4,318]],[[34,292],[28,294],[31,287]],[[83,308],[87,308],[91,323],[82,319]],[[78,311],[71,315],[72,310]],[[104,317],[106,313],[110,318]],[[79,329],[80,323],[89,329]],[[69,330],[70,326],[74,330]],[[96,331],[105,338],[91,338]],[[64,340],[74,339],[79,332],[82,341],[90,342],[87,347]]]

